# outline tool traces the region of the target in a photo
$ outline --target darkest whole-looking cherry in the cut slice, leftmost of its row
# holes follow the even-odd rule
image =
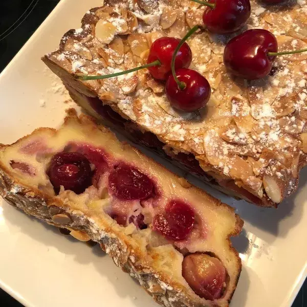
[[[63,186],[65,190],[80,194],[92,184],[90,161],[79,152],[60,152],[54,155],[47,174],[57,193],[60,186]]]

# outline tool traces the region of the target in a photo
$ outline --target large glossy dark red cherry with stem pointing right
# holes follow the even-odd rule
[[[252,29],[234,38],[226,45],[224,64],[228,72],[235,76],[253,80],[267,76],[276,56],[268,52],[277,52],[276,37],[267,30]]]

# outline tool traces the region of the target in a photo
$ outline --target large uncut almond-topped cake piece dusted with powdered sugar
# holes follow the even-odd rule
[[[172,108],[164,84],[148,70],[103,80],[73,77],[146,63],[155,40],[182,38],[202,25],[205,9],[190,1],[105,1],[87,12],[82,27],[67,32],[59,50],[43,61],[92,116],[217,189],[277,207],[295,191],[306,164],[306,52],[277,57],[269,76],[247,81],[231,76],[223,64],[225,44],[239,32],[199,30],[187,40],[190,68],[207,78],[212,93],[208,104],[194,113]],[[306,48],[307,5],[251,1],[251,17],[242,31],[253,28],[271,31],[278,51]]]

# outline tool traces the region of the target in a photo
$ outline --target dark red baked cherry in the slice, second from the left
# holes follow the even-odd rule
[[[153,193],[153,182],[137,168],[119,165],[109,175],[109,187],[122,200],[144,200]]]

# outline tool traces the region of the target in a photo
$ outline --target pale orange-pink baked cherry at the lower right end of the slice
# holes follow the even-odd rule
[[[189,254],[182,262],[182,276],[200,297],[214,300],[223,295],[226,270],[215,257],[201,253]]]

